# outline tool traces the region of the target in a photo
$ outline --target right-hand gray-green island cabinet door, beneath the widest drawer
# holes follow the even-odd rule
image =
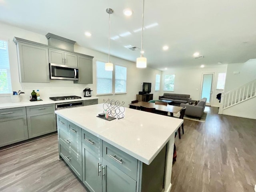
[[[136,181],[103,159],[103,192],[136,192]]]

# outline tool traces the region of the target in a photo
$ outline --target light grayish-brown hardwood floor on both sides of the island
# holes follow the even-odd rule
[[[218,114],[184,119],[175,138],[171,192],[254,192],[256,120]],[[57,135],[0,151],[1,192],[86,192],[62,160]]]

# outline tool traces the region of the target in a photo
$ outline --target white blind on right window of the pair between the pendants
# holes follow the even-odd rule
[[[118,65],[115,66],[115,93],[126,92],[126,74],[126,67]]]

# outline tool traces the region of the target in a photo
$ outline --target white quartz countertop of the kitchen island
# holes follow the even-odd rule
[[[97,104],[55,113],[148,165],[183,122],[130,108],[124,118],[107,121],[96,117],[103,111],[103,104]]]

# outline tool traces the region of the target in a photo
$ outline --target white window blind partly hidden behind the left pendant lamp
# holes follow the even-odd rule
[[[97,64],[97,94],[112,94],[112,71],[105,70],[105,63]]]

